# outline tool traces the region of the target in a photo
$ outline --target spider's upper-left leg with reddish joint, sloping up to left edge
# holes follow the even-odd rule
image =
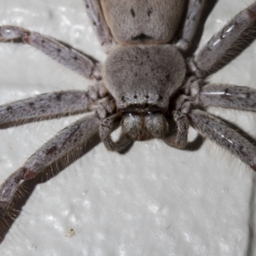
[[[10,42],[12,40],[22,40],[24,44],[32,45],[84,77],[100,79],[100,64],[93,63],[90,58],[57,40],[19,27],[1,26],[0,42]]]

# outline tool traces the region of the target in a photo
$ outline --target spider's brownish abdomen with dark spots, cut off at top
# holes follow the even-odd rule
[[[100,0],[100,3],[119,44],[165,44],[177,31],[185,0]]]

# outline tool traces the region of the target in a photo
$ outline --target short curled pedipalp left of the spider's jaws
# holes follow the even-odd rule
[[[121,113],[116,113],[115,115],[109,116],[104,119],[100,124],[99,134],[101,140],[108,150],[124,152],[129,148],[132,143],[132,139],[129,138],[124,133],[121,134],[120,138],[114,142],[111,138],[111,132],[113,131],[114,123],[121,118]]]

